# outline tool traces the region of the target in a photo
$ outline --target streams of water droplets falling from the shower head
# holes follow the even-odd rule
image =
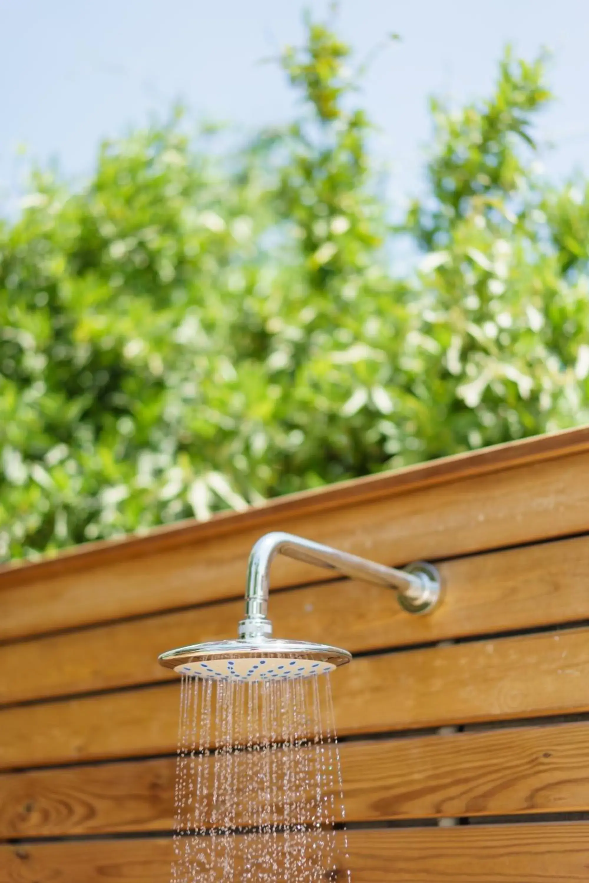
[[[347,880],[329,677],[180,691],[171,883]]]

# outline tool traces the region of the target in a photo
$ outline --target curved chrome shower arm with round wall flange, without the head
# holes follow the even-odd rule
[[[270,566],[276,555],[287,555],[307,564],[337,570],[346,577],[388,585],[397,592],[401,607],[410,613],[429,613],[440,600],[440,577],[432,564],[416,562],[405,570],[396,570],[313,540],[276,531],[261,537],[250,554],[245,619],[239,623],[240,638],[267,638],[272,634],[272,623],[268,620],[268,591]]]

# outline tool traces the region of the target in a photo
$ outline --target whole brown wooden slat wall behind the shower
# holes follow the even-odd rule
[[[419,618],[380,586],[273,571],[276,634],[356,654],[332,676],[355,883],[587,879],[580,429],[0,571],[0,883],[169,879],[178,685],[155,657],[235,634],[276,529],[435,560],[447,587]]]

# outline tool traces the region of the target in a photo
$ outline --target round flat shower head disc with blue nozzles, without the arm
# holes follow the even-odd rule
[[[194,644],[162,653],[160,664],[178,675],[237,683],[295,680],[327,675],[345,665],[351,654],[339,647],[258,638]]]

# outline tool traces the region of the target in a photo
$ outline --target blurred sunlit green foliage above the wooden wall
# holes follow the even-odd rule
[[[291,125],[174,115],[0,223],[0,555],[34,555],[587,419],[589,187],[547,183],[542,60],[434,102],[393,229],[350,49],[310,22]],[[423,258],[400,277],[397,235]]]

